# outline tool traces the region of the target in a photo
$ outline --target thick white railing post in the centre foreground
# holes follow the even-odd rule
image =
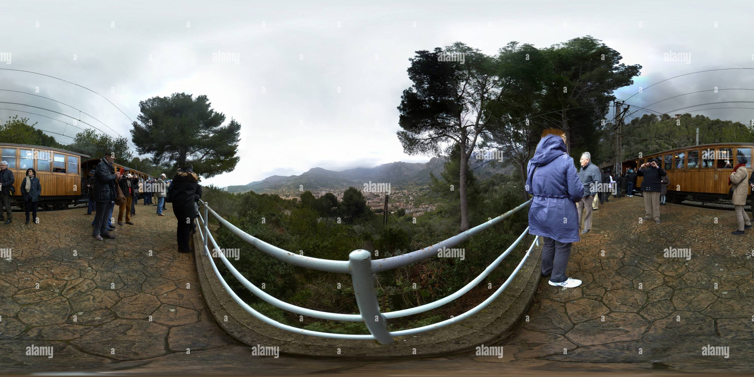
[[[372,253],[366,250],[354,250],[348,254],[348,262],[351,263],[351,281],[354,283],[356,303],[359,305],[359,313],[366,323],[366,328],[380,344],[389,345],[395,342],[388,333],[385,316],[379,312],[372,277]]]

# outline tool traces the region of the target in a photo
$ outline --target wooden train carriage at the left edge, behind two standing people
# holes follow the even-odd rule
[[[23,201],[21,182],[29,167],[37,172],[42,187],[39,200],[60,207],[75,198],[80,198],[81,160],[89,158],[78,152],[47,146],[29,146],[26,144],[0,144],[2,161],[8,161],[8,169],[14,174],[16,194],[14,201]],[[86,189],[84,185],[83,189]]]

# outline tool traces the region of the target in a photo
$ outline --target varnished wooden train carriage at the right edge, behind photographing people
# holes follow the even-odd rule
[[[661,158],[661,167],[670,180],[667,201],[679,203],[689,199],[714,202],[727,197],[730,188],[728,177],[737,165],[737,156],[746,158],[746,168],[751,176],[752,149],[754,143],[703,144],[652,153],[631,161],[639,167],[653,158]],[[640,188],[641,184],[642,177],[639,176],[636,186]]]

